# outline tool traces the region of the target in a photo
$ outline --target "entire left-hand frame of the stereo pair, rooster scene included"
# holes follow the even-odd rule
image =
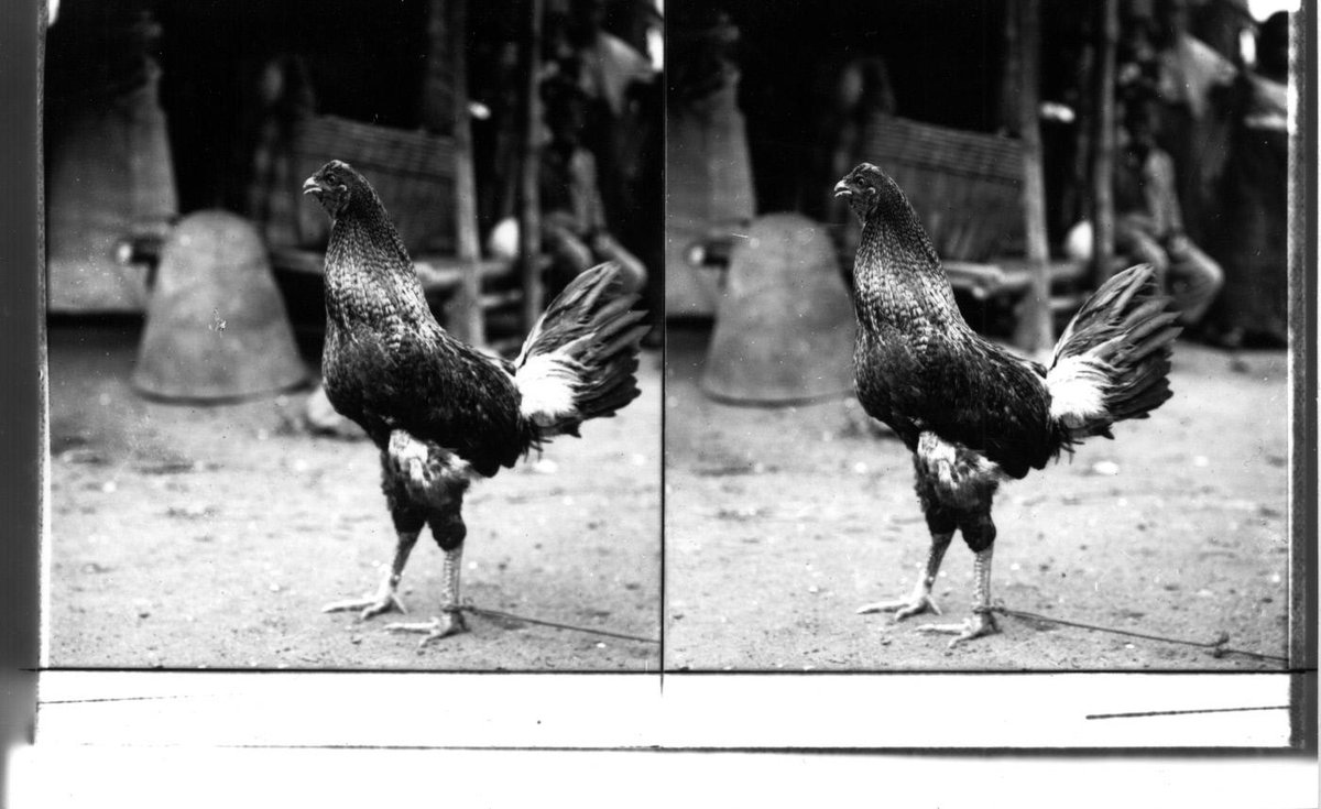
[[[52,8],[48,666],[658,670],[660,20],[542,5]]]

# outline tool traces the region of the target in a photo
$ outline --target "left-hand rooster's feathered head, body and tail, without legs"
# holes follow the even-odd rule
[[[332,215],[325,390],[379,447],[404,431],[491,476],[638,395],[633,374],[646,328],[629,328],[643,313],[630,311],[637,299],[621,293],[616,267],[575,279],[511,364],[436,323],[402,239],[361,174],[332,161],[317,177],[339,189],[322,198]]]

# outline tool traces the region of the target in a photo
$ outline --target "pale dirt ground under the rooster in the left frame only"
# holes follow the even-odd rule
[[[370,592],[394,550],[375,449],[300,424],[306,391],[215,407],[128,386],[133,324],[49,334],[49,665],[54,668],[657,670],[659,646],[469,616],[417,636],[324,615]],[[520,616],[658,638],[659,354],[642,398],[542,463],[473,485],[464,597]],[[536,459],[531,459],[536,461]],[[433,615],[424,534],[402,587]]]

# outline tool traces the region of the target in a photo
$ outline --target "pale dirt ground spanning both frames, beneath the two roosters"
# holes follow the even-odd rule
[[[1273,669],[1203,649],[1001,617],[946,649],[919,616],[855,615],[906,594],[927,537],[908,453],[856,403],[744,408],[696,387],[708,334],[671,329],[666,386],[666,666],[671,670]],[[49,662],[211,669],[657,670],[653,644],[470,616],[413,636],[322,615],[373,590],[392,550],[365,442],[309,435],[305,393],[192,407],[128,387],[137,329],[55,327],[50,345]],[[561,439],[550,463],[472,489],[464,595],[477,605],[658,637],[659,356],[643,398]],[[1176,397],[1116,442],[997,500],[993,597],[1073,621],[1284,654],[1287,357],[1180,344]],[[440,554],[404,578],[432,613]],[[971,554],[935,596],[960,620]]]

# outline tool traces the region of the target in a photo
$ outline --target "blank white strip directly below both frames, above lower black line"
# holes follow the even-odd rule
[[[1287,674],[46,672],[40,702],[38,746],[1004,750],[1284,748],[1289,740]]]

